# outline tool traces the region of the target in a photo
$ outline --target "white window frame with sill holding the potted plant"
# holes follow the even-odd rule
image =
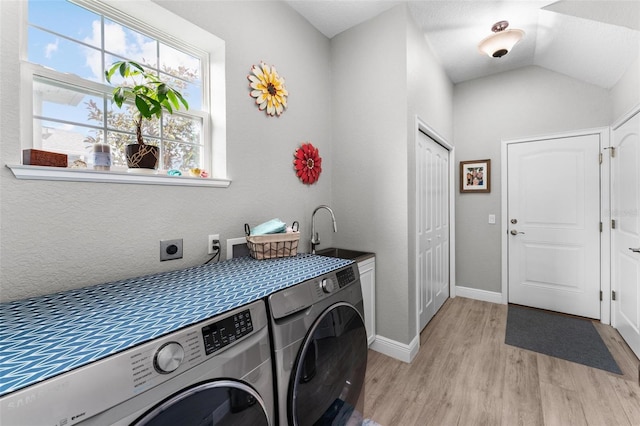
[[[97,171],[92,169],[69,169],[57,167],[39,167],[27,165],[8,165],[18,179],[41,180],[68,180],[90,182],[114,182],[114,183],[140,183],[160,185],[184,185],[184,186],[214,186],[228,187],[231,181],[227,178],[226,161],[226,95],[225,95],[225,43],[215,35],[201,29],[186,19],[179,17],[151,0],[137,0],[132,2],[118,0],[73,0],[74,3],[88,7],[91,10],[115,18],[124,25],[133,29],[141,29],[150,34],[158,31],[164,37],[158,37],[166,41],[169,37],[172,44],[193,46],[200,49],[202,56],[208,57],[208,81],[203,78],[205,96],[203,110],[209,110],[209,117],[203,120],[203,139],[205,145],[205,158],[208,158],[209,178],[190,178],[163,175],[136,175],[121,171]],[[80,77],[72,74],[63,74],[51,71],[45,67],[31,64],[27,61],[28,28],[28,2],[22,2],[21,7],[21,140],[22,149],[34,148],[33,146],[33,79],[35,76],[54,77],[54,79],[77,84]],[[145,23],[145,17],[153,16],[154,26]],[[188,51],[188,50],[187,50]],[[80,79],[84,86],[86,80]],[[211,104],[207,105],[206,102]]]

